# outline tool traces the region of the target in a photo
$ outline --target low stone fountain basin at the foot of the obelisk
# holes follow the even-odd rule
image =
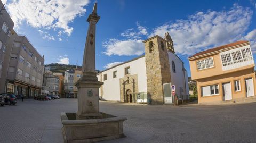
[[[76,119],[76,113],[61,113],[62,133],[65,143],[98,142],[123,138],[125,117],[116,117],[106,113],[102,116],[88,116]]]

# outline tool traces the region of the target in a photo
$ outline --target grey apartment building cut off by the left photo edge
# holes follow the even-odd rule
[[[2,1],[0,1],[0,7],[2,6],[3,6],[3,3]],[[9,41],[10,36],[12,36],[13,34],[14,23],[6,10],[2,10],[0,13],[1,13],[0,26],[2,27],[0,29],[0,93],[1,93],[1,92],[5,92],[5,87],[6,87],[7,71],[6,72],[4,71],[4,64],[6,64],[8,61],[4,61],[4,58],[5,56],[8,56],[6,54],[6,49],[9,49],[10,47],[8,47],[7,42]]]

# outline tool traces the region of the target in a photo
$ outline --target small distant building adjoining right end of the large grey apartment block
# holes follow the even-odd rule
[[[60,78],[57,75],[44,73],[43,85],[48,87],[49,95],[59,95]]]

